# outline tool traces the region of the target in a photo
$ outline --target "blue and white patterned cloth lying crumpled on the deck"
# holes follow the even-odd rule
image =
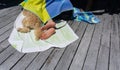
[[[98,19],[92,12],[84,12],[80,11],[78,8],[74,8],[73,17],[76,21],[85,21],[88,23],[99,23],[100,19]]]

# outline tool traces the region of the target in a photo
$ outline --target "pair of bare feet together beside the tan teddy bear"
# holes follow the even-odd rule
[[[41,40],[48,39],[55,33],[55,24],[53,20],[49,20],[47,24],[41,28],[44,30],[44,33],[40,37]]]

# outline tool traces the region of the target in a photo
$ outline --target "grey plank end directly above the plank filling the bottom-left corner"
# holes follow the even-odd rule
[[[6,50],[0,53],[0,65],[8,59],[16,50],[9,46]]]

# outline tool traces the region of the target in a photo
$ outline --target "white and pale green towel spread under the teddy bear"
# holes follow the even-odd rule
[[[22,53],[40,52],[51,47],[63,48],[78,39],[78,36],[70,28],[66,21],[56,24],[56,33],[47,40],[35,40],[34,30],[29,33],[20,33],[18,27],[22,27],[24,16],[20,13],[14,23],[14,28],[8,39],[9,43]],[[62,28],[61,28],[62,27]]]

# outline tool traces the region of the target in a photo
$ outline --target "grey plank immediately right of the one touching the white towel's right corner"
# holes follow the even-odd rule
[[[94,26],[89,24],[85,34],[80,42],[78,50],[76,51],[76,55],[71,63],[69,70],[81,70],[84,64],[85,57],[87,55],[87,50],[89,48],[90,41],[92,39],[92,34],[94,31]]]

